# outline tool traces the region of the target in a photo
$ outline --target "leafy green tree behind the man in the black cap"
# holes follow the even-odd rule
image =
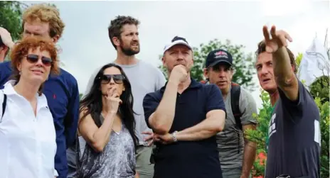
[[[233,82],[245,87],[250,91],[254,91],[255,83],[252,81],[252,77],[255,74],[254,61],[252,60],[252,54],[245,54],[243,51],[245,46],[233,45],[230,40],[225,40],[225,43],[220,42],[218,39],[210,40],[208,44],[201,44],[199,48],[193,48],[193,67],[191,69],[191,77],[198,81],[202,80],[203,67],[205,66],[205,60],[208,52],[217,49],[228,50],[233,55],[233,66],[235,68],[235,74],[233,76]],[[159,66],[167,77],[167,71],[163,66]]]

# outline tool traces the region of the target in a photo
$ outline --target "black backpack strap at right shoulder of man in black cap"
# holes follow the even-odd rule
[[[242,113],[240,112],[240,85],[234,82],[232,82],[230,89],[230,104],[235,117],[236,126],[238,126],[240,130],[243,130],[240,121],[240,117],[242,116]]]

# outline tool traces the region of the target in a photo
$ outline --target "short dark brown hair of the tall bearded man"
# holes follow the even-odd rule
[[[135,25],[139,26],[140,22],[136,18],[133,18],[132,16],[117,16],[114,20],[111,21],[110,26],[107,28],[109,33],[109,38],[114,46],[115,50],[117,50],[117,47],[115,43],[113,43],[112,38],[117,37],[119,40],[120,34],[122,33],[122,27],[124,25]]]

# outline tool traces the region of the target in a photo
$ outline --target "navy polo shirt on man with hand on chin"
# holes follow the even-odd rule
[[[149,128],[149,116],[156,111],[166,84],[160,90],[144,96],[144,116]],[[196,126],[206,119],[208,111],[214,109],[225,111],[220,89],[214,84],[205,85],[191,79],[189,87],[182,94],[177,94],[174,121],[169,133]],[[205,140],[155,144],[154,178],[222,177],[215,135]]]

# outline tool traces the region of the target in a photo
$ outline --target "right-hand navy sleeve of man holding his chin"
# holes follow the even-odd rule
[[[223,95],[220,89],[215,84],[207,84],[207,100],[206,100],[206,113],[215,109],[225,111],[225,103],[223,102]],[[226,112],[226,111],[225,111]]]

